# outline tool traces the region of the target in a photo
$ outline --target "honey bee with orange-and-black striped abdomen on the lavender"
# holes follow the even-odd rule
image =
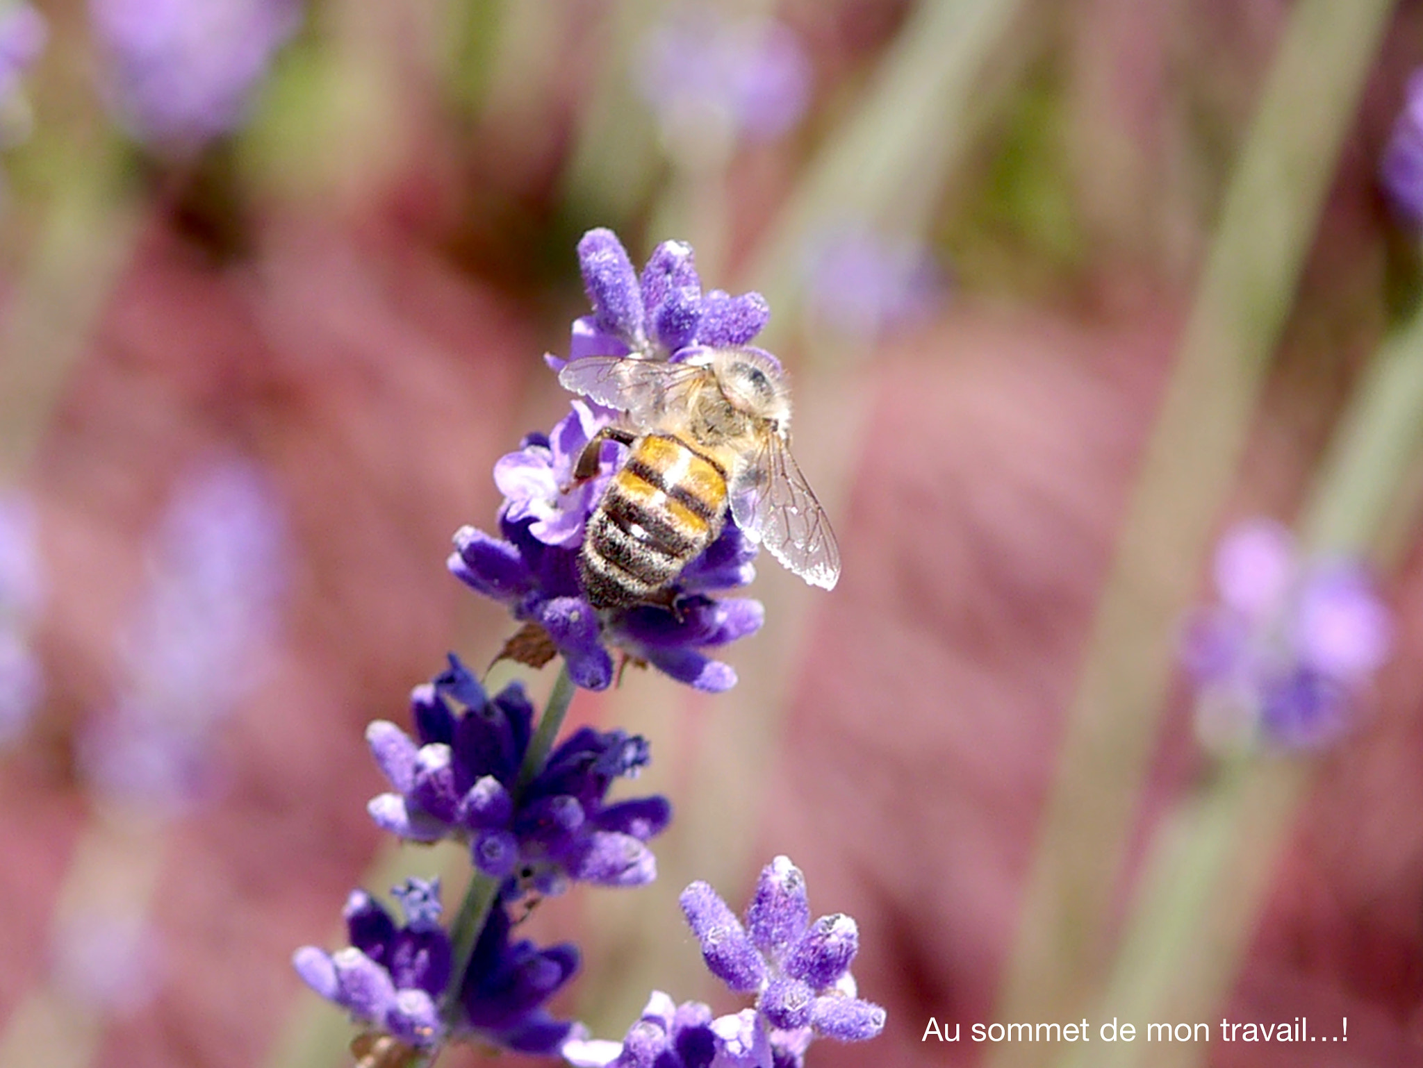
[[[656,600],[726,525],[811,586],[834,589],[840,549],[790,451],[790,390],[756,348],[704,348],[682,363],[582,357],[559,383],[626,414],[573,472],[598,472],[605,438],[632,447],[588,522],[579,570],[593,607]]]

